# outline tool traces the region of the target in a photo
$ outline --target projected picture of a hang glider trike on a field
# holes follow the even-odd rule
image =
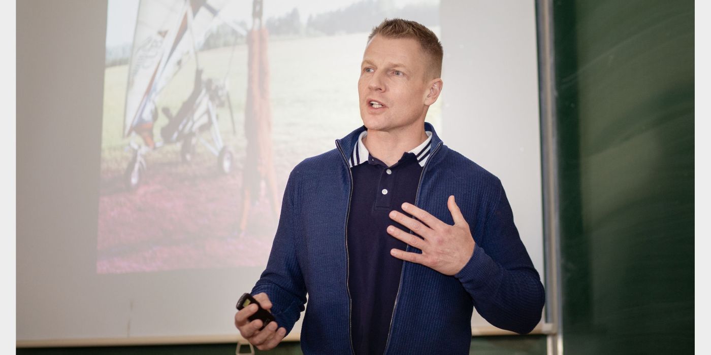
[[[289,172],[362,124],[370,28],[439,33],[412,2],[109,0],[97,273],[266,265]]]

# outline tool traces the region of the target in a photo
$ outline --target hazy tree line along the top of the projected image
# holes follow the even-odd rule
[[[370,31],[386,17],[402,17],[422,23],[424,26],[439,26],[439,3],[407,4],[402,8],[388,6],[388,1],[360,1],[343,9],[309,16],[304,21],[299,9],[292,9],[284,16],[270,17],[264,21],[269,36],[299,37],[335,35]],[[249,28],[245,21],[237,26]],[[222,23],[208,33],[198,50],[207,50],[230,45],[245,44],[247,38],[235,33],[230,26]],[[106,48],[106,67],[128,64],[131,58],[131,44]]]

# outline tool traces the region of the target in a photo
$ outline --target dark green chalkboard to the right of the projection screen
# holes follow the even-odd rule
[[[694,2],[555,1],[566,354],[694,348]]]

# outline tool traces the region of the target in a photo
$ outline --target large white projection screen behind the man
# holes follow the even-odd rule
[[[385,17],[442,40],[427,121],[501,178],[543,278],[533,1],[21,1],[18,346],[235,341],[289,171],[362,125]]]

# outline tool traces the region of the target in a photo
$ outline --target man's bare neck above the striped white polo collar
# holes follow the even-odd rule
[[[368,129],[368,135],[363,137],[363,144],[368,148],[370,155],[390,166],[402,158],[402,153],[412,151],[426,140],[424,124],[419,124],[394,131]]]

